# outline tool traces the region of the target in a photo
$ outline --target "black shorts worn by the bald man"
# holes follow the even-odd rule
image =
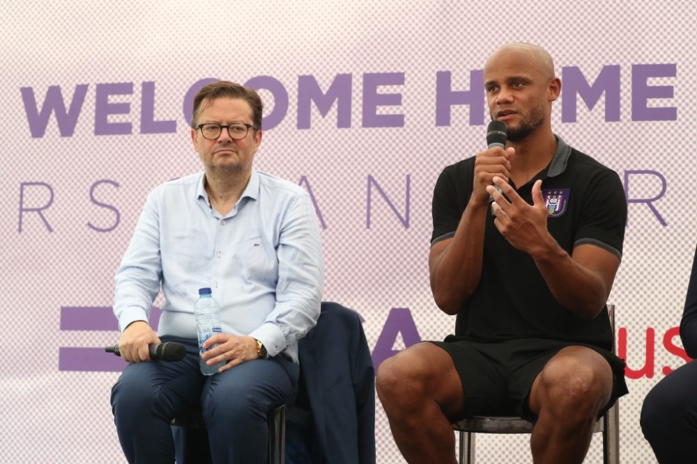
[[[474,342],[452,335],[444,342],[431,342],[452,358],[462,382],[465,407],[452,420],[485,416],[519,416],[535,422],[537,417],[528,408],[530,388],[537,374],[553,355],[566,346],[588,346],[605,358],[613,372],[613,388],[608,403],[600,410],[601,417],[619,397],[627,394],[625,360],[610,351],[583,343],[527,338],[505,342]]]

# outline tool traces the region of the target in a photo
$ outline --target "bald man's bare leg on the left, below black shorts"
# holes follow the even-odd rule
[[[428,342],[415,344],[383,361],[376,390],[408,463],[457,462],[447,417],[463,408],[464,393],[450,355]]]

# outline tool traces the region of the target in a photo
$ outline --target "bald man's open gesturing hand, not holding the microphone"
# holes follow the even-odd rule
[[[535,257],[536,252],[549,243],[542,180],[538,179],[533,184],[533,205],[528,205],[504,179],[493,177],[493,183],[510,200],[506,200],[493,186],[487,187],[494,200],[494,225],[514,248]]]

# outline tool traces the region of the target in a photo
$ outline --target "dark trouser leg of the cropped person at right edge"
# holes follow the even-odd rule
[[[697,461],[697,360],[675,369],[646,395],[641,431],[659,463]]]

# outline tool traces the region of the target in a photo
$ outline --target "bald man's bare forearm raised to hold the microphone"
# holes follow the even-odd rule
[[[482,277],[484,228],[489,207],[470,200],[455,231],[443,250],[431,248],[429,269],[436,305],[446,314],[459,312],[474,293]]]

